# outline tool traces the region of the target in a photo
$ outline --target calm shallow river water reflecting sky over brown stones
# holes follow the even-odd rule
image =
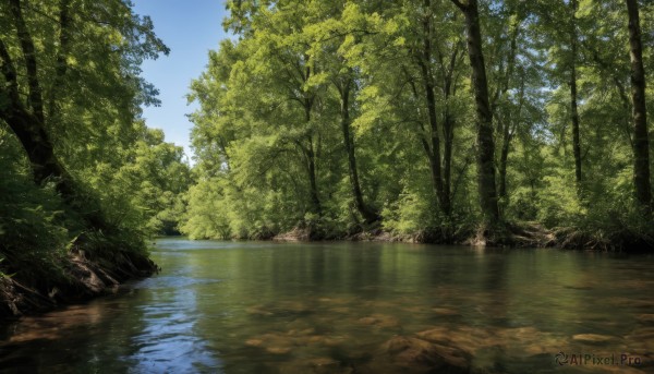
[[[114,295],[0,326],[0,372],[428,372],[389,349],[410,337],[476,372],[654,373],[654,256],[161,239],[153,258]]]

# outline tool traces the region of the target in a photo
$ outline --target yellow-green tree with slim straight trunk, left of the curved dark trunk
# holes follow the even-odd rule
[[[307,40],[300,33],[306,21],[293,4],[281,7],[283,8],[274,13],[261,10],[257,14],[253,27],[257,27],[259,33],[243,41],[253,53],[233,68],[237,72],[232,77],[240,80],[243,87],[253,82],[265,82],[263,88],[267,93],[267,102],[256,99],[250,102],[255,106],[268,106],[268,109],[259,107],[263,109],[262,113],[268,117],[267,121],[288,129],[275,145],[280,148],[290,146],[299,153],[308,186],[308,212],[320,216],[323,205],[318,185],[317,153],[322,133],[317,128],[315,111],[324,75],[319,68],[310,61],[305,48]],[[255,89],[261,88],[259,86]],[[239,95],[237,89],[234,93]]]

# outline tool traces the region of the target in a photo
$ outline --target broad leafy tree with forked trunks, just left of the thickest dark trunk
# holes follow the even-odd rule
[[[388,5],[380,10],[382,20],[371,13],[372,35],[359,46],[348,46],[354,55],[352,61],[366,71],[362,91],[371,93],[370,98],[367,93],[363,95],[370,109],[356,122],[392,123],[391,117],[409,130],[427,166],[431,198],[437,209],[433,220],[450,221],[457,177],[452,177],[455,134],[467,109],[460,89],[464,50],[457,14],[441,1]],[[421,22],[408,21],[417,19]],[[362,47],[370,51],[356,56]],[[373,95],[378,98],[373,100]]]

